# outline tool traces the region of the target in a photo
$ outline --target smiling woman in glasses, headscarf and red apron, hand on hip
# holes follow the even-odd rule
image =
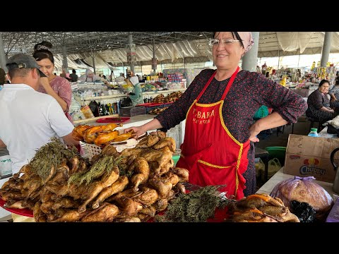
[[[239,61],[253,42],[251,32],[215,32],[210,46],[217,70],[201,71],[168,109],[149,123],[132,127],[142,135],[158,128],[169,130],[186,119],[177,167],[189,169],[189,183],[224,185],[220,191],[237,200],[256,191],[256,135],[297,122],[307,109],[295,92],[261,73],[239,71]],[[275,112],[254,123],[261,105]]]

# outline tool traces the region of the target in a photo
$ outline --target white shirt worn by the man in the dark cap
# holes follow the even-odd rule
[[[25,84],[5,84],[0,91],[0,139],[11,155],[13,174],[52,137],[64,137],[73,128],[52,96]]]

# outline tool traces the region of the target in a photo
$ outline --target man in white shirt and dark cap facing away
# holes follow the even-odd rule
[[[43,73],[35,59],[16,54],[6,66],[11,84],[0,91],[0,147],[7,147],[16,174],[52,137],[62,138],[67,145],[79,142],[73,139],[74,126],[57,100],[37,92]]]

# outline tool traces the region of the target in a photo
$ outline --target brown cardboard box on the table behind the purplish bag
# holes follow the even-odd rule
[[[284,173],[293,176],[314,176],[333,183],[335,170],[331,152],[339,147],[339,138],[315,138],[290,134],[287,142]],[[339,152],[334,157],[338,164]]]

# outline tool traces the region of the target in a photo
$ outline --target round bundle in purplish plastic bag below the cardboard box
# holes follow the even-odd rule
[[[273,188],[270,196],[280,198],[292,213],[292,200],[307,202],[316,211],[316,219],[323,221],[333,206],[333,199],[323,187],[313,182],[314,179],[314,176],[286,179]]]

